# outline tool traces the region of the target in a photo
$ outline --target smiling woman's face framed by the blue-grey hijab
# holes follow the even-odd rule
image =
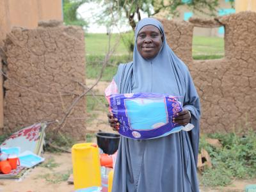
[[[140,29],[136,45],[141,56],[148,60],[154,58],[163,44],[163,35],[156,26],[148,25]]]

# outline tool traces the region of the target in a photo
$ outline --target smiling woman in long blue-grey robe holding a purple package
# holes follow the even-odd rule
[[[200,102],[188,68],[166,43],[156,19],[143,19],[135,31],[133,61],[121,64],[114,77],[119,93],[152,92],[178,96],[184,110],[173,121],[195,127],[152,140],[121,137],[113,192],[199,191],[196,163]],[[109,114],[109,123],[119,123]]]

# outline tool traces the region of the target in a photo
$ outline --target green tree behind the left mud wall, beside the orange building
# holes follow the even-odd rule
[[[86,2],[88,2],[88,0],[63,1],[63,17],[65,24],[88,28],[88,23],[82,18],[77,17],[77,9]]]

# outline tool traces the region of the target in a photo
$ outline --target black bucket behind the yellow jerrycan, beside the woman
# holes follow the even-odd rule
[[[98,132],[96,137],[99,148],[101,148],[105,154],[114,154],[118,149],[120,134]]]

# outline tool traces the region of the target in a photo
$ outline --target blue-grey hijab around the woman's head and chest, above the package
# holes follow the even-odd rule
[[[166,43],[163,26],[158,20],[141,20],[136,26],[135,37],[137,38],[140,29],[146,25],[156,26],[161,31],[163,45],[155,58],[145,60],[138,52],[135,42],[132,92],[172,93],[173,96],[184,97],[181,88],[185,86],[183,70],[186,66]]]

